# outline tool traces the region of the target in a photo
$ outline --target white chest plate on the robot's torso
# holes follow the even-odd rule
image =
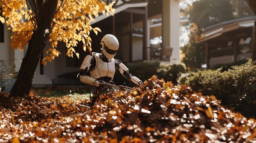
[[[111,59],[111,62],[106,63],[101,60],[99,55],[99,53],[94,53],[93,55],[96,60],[96,65],[90,71],[91,77],[94,79],[101,77],[111,77],[112,80],[115,75],[115,59]]]

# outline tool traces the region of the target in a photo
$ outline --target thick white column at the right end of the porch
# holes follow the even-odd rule
[[[162,45],[173,48],[171,63],[180,62],[180,1],[163,0],[162,11]]]

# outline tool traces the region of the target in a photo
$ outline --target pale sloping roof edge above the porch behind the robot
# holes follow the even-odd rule
[[[148,2],[123,3],[123,4],[118,5],[115,8],[115,13],[114,14],[117,14],[117,13],[119,13],[121,11],[124,11],[128,8],[146,7],[147,5],[148,5]],[[110,16],[111,16],[111,14],[108,14],[108,15],[106,13],[105,13],[105,15],[101,14],[101,15],[99,15],[99,17],[94,18],[94,21],[92,21],[90,24],[97,23],[97,22],[99,22],[103,19],[106,19],[106,18],[110,17]]]

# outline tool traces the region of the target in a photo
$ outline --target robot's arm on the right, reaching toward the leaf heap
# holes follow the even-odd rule
[[[123,64],[123,63],[119,63],[118,64],[119,66],[119,71],[120,73],[126,77],[127,79],[129,79],[130,81],[132,81],[133,83],[137,84],[137,85],[140,85],[142,84],[142,81],[139,80],[137,77],[135,76],[132,76],[130,73],[129,73],[129,69]]]

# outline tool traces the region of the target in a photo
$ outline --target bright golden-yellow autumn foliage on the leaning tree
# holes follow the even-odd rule
[[[43,0],[1,0],[2,15],[5,18],[8,29],[13,32],[11,36],[11,46],[15,49],[23,49],[27,45],[34,31],[38,28],[38,19],[46,13],[40,13],[40,9],[45,4]],[[101,31],[99,28],[92,28],[90,22],[103,14],[113,14],[114,2],[107,5],[99,0],[58,0],[56,12],[51,22],[52,31],[45,29],[45,34],[49,33],[47,56],[43,59],[43,64],[58,57],[60,52],[56,49],[58,42],[63,41],[67,47],[67,56],[76,55],[75,48],[78,42],[83,42],[84,51],[88,48],[91,51],[90,31],[96,34]],[[4,22],[1,17],[0,20]]]

